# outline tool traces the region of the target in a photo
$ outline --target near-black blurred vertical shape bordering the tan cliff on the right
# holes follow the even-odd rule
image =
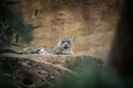
[[[133,87],[133,1],[124,0],[115,38],[111,50],[111,64],[124,79],[125,87]]]

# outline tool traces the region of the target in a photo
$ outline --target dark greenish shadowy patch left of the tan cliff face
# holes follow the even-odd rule
[[[30,43],[34,25],[25,24],[21,12],[21,1],[0,2],[0,47],[14,43]]]

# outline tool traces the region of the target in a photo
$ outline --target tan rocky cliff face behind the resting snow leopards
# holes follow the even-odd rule
[[[39,26],[31,44],[52,48],[70,36],[75,54],[105,58],[120,6],[120,0],[23,0],[22,12],[27,23]]]

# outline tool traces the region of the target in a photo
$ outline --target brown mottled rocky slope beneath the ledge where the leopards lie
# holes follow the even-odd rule
[[[3,87],[9,85],[7,88],[10,85],[13,88],[55,88],[61,79],[78,76],[79,70],[92,67],[102,69],[104,65],[99,58],[90,56],[0,56],[0,76],[4,78]]]

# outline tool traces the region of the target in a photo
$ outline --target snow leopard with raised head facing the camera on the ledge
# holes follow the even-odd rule
[[[71,37],[61,37],[58,45],[51,50],[53,55],[73,55],[73,41]]]

